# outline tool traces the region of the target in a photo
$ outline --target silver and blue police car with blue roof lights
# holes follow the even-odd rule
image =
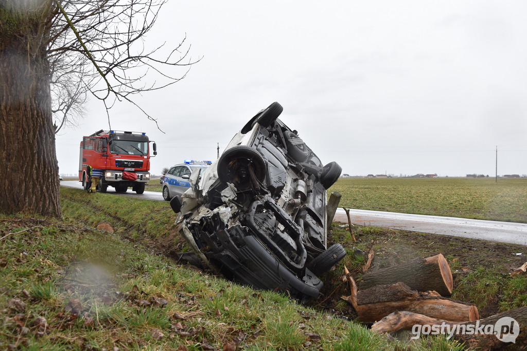
[[[190,174],[196,168],[204,169],[210,167],[211,161],[197,161],[186,159],[183,163],[170,167],[163,177],[163,199],[170,201],[174,196],[181,196],[190,187]]]

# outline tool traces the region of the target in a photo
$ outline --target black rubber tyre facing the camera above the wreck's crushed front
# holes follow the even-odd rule
[[[267,173],[264,158],[255,149],[244,145],[231,147],[221,154],[218,159],[218,178],[222,183],[236,183],[232,168],[244,164],[252,168],[260,182],[264,182]]]

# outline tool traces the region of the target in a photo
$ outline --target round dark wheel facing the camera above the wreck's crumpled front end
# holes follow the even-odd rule
[[[218,178],[223,183],[233,183],[235,186],[250,185],[250,170],[259,182],[264,182],[264,158],[249,146],[231,147],[218,159]]]

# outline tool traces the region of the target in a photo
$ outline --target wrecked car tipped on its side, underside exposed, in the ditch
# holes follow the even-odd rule
[[[243,126],[221,157],[171,200],[176,224],[201,262],[259,289],[318,297],[319,277],[346,255],[327,247],[327,194],[340,176],[278,116],[275,102]]]

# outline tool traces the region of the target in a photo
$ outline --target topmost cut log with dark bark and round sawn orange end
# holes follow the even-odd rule
[[[453,288],[450,266],[445,257],[438,254],[370,272],[364,275],[359,289],[364,290],[376,285],[389,285],[397,282],[405,283],[418,292],[435,290],[441,296],[450,296]]]

